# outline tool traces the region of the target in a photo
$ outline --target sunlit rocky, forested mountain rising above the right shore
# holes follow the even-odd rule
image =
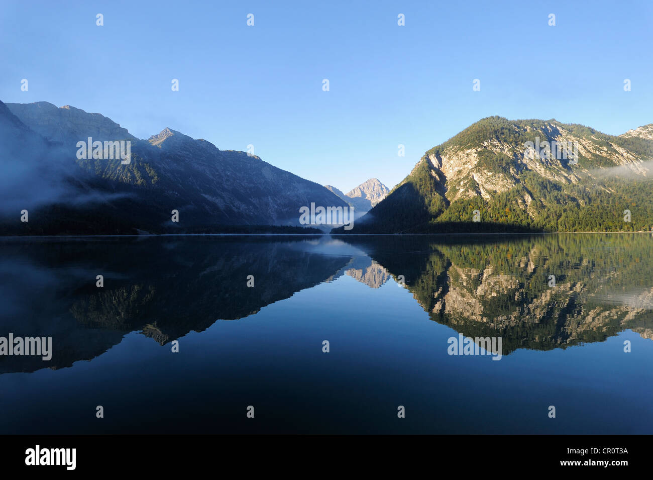
[[[336,232],[649,231],[652,134],[653,124],[613,136],[484,118],[424,153],[353,230]]]

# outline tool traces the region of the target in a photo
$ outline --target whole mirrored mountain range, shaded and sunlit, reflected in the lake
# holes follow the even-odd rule
[[[5,239],[0,336],[52,336],[54,349],[47,364],[1,356],[0,373],[90,360],[133,331],[165,345],[344,275],[375,289],[361,302],[402,276],[430,319],[464,336],[501,336],[504,355],[600,342],[626,328],[653,339],[651,242],[646,234]]]

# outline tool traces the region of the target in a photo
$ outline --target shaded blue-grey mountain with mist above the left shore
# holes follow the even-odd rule
[[[276,168],[255,155],[219,150],[170,128],[138,140],[118,123],[73,107],[0,102],[0,137],[24,172],[14,182],[11,208],[0,210],[5,234],[114,234],[210,232],[225,225],[299,226],[300,208],[347,206],[324,187]],[[16,136],[14,131],[24,131]],[[78,158],[77,142],[130,142],[129,163],[121,158]],[[28,140],[27,138],[31,140]],[[44,145],[40,162],[31,145]],[[104,146],[106,149],[106,144]],[[84,150],[84,149],[82,149]],[[84,155],[87,156],[87,155]],[[29,158],[28,158],[29,157]],[[48,163],[44,168],[42,163]],[[52,166],[58,170],[53,172]],[[3,165],[12,174],[16,166]],[[39,171],[54,184],[51,195],[27,195]],[[20,191],[25,190],[25,195]],[[51,188],[52,190],[52,188]],[[3,191],[3,193],[5,193]],[[4,200],[3,200],[4,201]],[[20,207],[20,208],[19,208]],[[18,208],[18,210],[16,210]],[[29,222],[20,222],[21,209]],[[172,221],[178,210],[179,221]],[[306,225],[310,227],[310,225]],[[217,229],[217,230],[216,230]]]

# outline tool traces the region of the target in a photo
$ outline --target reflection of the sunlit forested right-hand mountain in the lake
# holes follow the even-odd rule
[[[501,336],[504,354],[601,342],[626,328],[653,339],[648,234],[346,240],[404,276],[432,320],[464,336]]]

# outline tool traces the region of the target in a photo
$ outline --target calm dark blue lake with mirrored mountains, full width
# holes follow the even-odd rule
[[[0,356],[0,434],[653,431],[649,234],[0,248],[0,336],[52,337]]]

